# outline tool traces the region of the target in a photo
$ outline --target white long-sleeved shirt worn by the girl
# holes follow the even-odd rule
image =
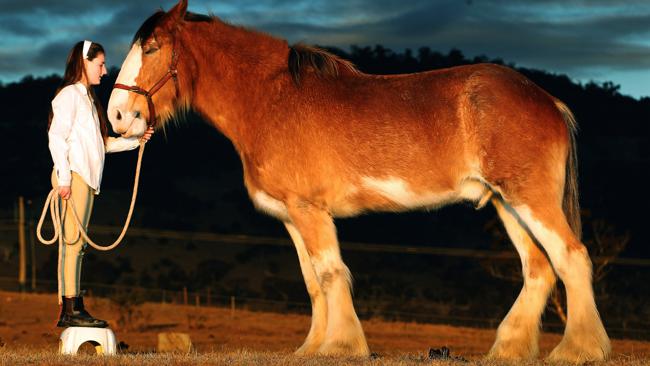
[[[69,186],[71,171],[99,194],[106,153],[133,150],[137,137],[104,139],[95,105],[82,83],[68,85],[52,100],[52,124],[48,131],[50,153],[60,186]]]

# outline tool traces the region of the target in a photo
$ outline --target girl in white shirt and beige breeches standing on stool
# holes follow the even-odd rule
[[[105,52],[99,43],[78,42],[70,51],[63,82],[52,100],[48,124],[49,148],[54,161],[52,186],[63,200],[74,200],[77,217],[88,227],[93,197],[99,194],[104,154],[127,151],[139,146],[137,138],[108,136],[104,108],[92,85],[106,75]],[[153,130],[142,137],[149,140]],[[60,207],[64,207],[60,205]],[[65,242],[59,247],[58,283],[61,314],[59,327],[106,327],[85,309],[79,290],[81,263],[86,243],[79,236],[72,207],[62,212]]]

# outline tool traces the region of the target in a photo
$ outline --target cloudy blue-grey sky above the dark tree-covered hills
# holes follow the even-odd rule
[[[119,67],[140,24],[175,3],[0,0],[0,81],[62,74],[83,39],[101,43]],[[290,43],[457,48],[650,96],[650,0],[190,0],[189,10]]]

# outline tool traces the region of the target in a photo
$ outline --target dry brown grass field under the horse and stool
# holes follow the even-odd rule
[[[375,357],[347,359],[300,358],[292,355],[306,336],[310,318],[230,309],[147,303],[133,310],[128,326],[117,327],[118,309],[105,299],[88,299],[97,317],[108,319],[118,342],[128,345],[118,356],[99,357],[82,347],[79,356],[59,356],[60,329],[54,327],[58,307],[52,294],[0,292],[0,365],[452,365],[461,361],[431,361],[430,348],[443,346],[469,364],[500,365],[484,361],[494,340],[494,329],[446,325],[363,321]],[[194,351],[188,355],[156,353],[159,332],[188,333]],[[560,340],[543,334],[541,356]],[[614,354],[606,365],[650,364],[650,342],[612,341]],[[86,347],[87,346],[87,347]],[[528,364],[543,364],[539,361]]]

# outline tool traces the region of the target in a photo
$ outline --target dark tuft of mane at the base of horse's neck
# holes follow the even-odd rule
[[[353,74],[359,73],[352,62],[323,49],[301,43],[289,47],[289,73],[296,85],[300,85],[300,78],[305,70],[311,69],[318,76],[338,77],[341,66]]]

